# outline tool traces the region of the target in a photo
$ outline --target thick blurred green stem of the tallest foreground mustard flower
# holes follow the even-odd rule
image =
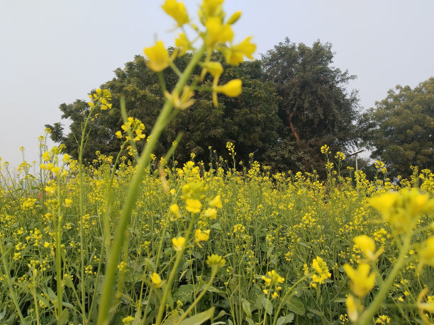
[[[187,68],[184,70],[182,77],[179,78],[179,81],[175,86],[175,91],[178,91],[179,93],[184,88],[184,85],[187,84],[189,76],[193,72],[194,67],[196,67],[196,64],[198,64],[199,60],[204,55],[204,52],[205,47],[203,46],[201,47],[201,50],[199,50],[199,52],[197,52],[194,57],[191,58],[191,61],[187,65]],[[126,201],[123,205],[122,215],[118,222],[118,227],[116,229],[116,235],[113,241],[113,245],[111,246],[109,263],[107,265],[106,277],[104,279],[104,287],[101,296],[101,304],[99,308],[97,324],[109,323],[109,308],[111,304],[111,297],[113,296],[113,288],[115,287],[114,282],[116,270],[118,266],[119,256],[121,254],[121,247],[123,246],[124,234],[128,223],[130,222],[131,212],[133,211],[135,200],[138,196],[138,190],[140,188],[140,184],[142,183],[143,173],[150,163],[150,154],[152,154],[152,152],[154,151],[155,146],[158,142],[158,138],[164,130],[165,125],[167,125],[167,117],[172,111],[172,106],[172,101],[165,101],[165,105],[163,106],[154,127],[152,127],[148,144],[146,144],[143,153],[140,155],[137,169],[134,173],[133,178],[131,179],[130,186],[128,187],[128,193],[126,196]]]

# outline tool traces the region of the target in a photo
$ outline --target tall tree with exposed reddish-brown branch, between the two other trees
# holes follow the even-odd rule
[[[288,38],[262,56],[265,80],[279,96],[283,127],[272,160],[291,169],[321,169],[322,144],[333,150],[352,147],[360,139],[357,92],[348,93],[355,76],[333,67],[329,43],[311,47]]]

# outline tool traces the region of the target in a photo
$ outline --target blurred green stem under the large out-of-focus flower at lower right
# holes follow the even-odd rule
[[[404,237],[404,243],[401,247],[401,251],[399,252],[399,256],[396,260],[394,268],[392,268],[389,275],[387,275],[386,280],[384,280],[384,283],[382,284],[379,292],[375,296],[374,301],[369,305],[369,308],[366,309],[365,312],[362,313],[362,315],[360,315],[360,319],[357,324],[364,325],[372,323],[372,317],[374,317],[374,314],[378,311],[378,309],[382,307],[384,297],[386,297],[387,293],[389,292],[389,288],[394,283],[394,280],[398,275],[399,270],[401,270],[402,266],[404,266],[404,263],[406,261],[406,253],[411,246],[411,235],[411,232],[408,232]]]

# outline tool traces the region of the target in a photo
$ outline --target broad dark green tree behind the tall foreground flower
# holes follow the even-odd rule
[[[175,64],[183,70],[189,62],[190,55],[177,58]],[[250,152],[261,161],[269,156],[269,151],[278,139],[277,130],[281,125],[277,115],[277,96],[272,82],[262,81],[262,68],[259,61],[244,62],[238,67],[228,67],[218,53],[212,59],[219,61],[225,67],[220,84],[231,79],[243,81],[243,93],[237,98],[219,96],[219,106],[215,108],[211,93],[197,92],[196,102],[187,110],[177,115],[163,132],[158,147],[157,156],[162,156],[172,145],[179,132],[183,133],[182,141],[175,152],[175,159],[187,161],[191,152],[198,160],[207,161],[208,147],[213,147],[219,154],[225,154],[226,142],[235,144],[237,157],[246,161]],[[199,73],[199,70],[195,72]],[[99,114],[91,121],[91,131],[87,141],[84,158],[94,159],[98,150],[103,154],[114,155],[118,152],[120,140],[114,136],[121,129],[122,119],[119,110],[119,98],[125,96],[129,116],[139,118],[150,131],[163,105],[163,92],[157,75],[146,66],[145,58],[136,56],[133,62],[128,62],[124,69],[116,69],[115,78],[101,88],[109,89],[113,95],[113,108]],[[177,81],[177,76],[170,69],[163,72],[167,89],[171,90]],[[193,76],[194,77],[194,76]],[[211,87],[212,79],[207,76],[205,86]],[[87,102],[77,100],[71,104],[62,104],[62,119],[72,121],[69,132],[65,132],[61,122],[51,127],[52,139],[62,142],[67,152],[77,156],[77,139],[81,135],[81,124],[88,110]],[[84,113],[83,113],[84,112]],[[145,130],[145,132],[146,132]],[[143,144],[142,144],[143,146]],[[143,149],[138,146],[138,149]]]

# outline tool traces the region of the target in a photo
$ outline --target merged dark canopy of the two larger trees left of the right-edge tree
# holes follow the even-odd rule
[[[187,53],[174,63],[182,71],[189,58]],[[208,147],[224,154],[226,142],[233,142],[238,161],[247,161],[253,153],[255,160],[274,169],[311,170],[323,165],[321,145],[343,151],[360,138],[355,125],[359,116],[357,93],[345,90],[347,81],[355,76],[331,66],[330,44],[318,41],[308,47],[286,38],[262,60],[233,67],[227,66],[217,52],[212,59],[225,68],[219,83],[239,78],[243,81],[243,93],[237,98],[219,96],[219,106],[214,108],[211,93],[197,92],[194,105],[179,113],[162,133],[157,156],[164,155],[182,132],[182,141],[174,154],[180,162],[187,161],[191,152],[198,160],[208,161]],[[171,69],[165,69],[163,74],[167,89],[171,90],[177,76]],[[204,86],[211,83],[211,78],[205,79]],[[116,69],[115,77],[101,88],[111,91],[113,108],[91,121],[84,152],[87,161],[94,159],[96,151],[109,155],[118,152],[120,142],[114,134],[123,124],[121,96],[126,99],[127,114],[140,119],[145,132],[150,132],[164,99],[157,74],[140,55],[126,63],[124,69]],[[69,132],[63,130],[61,122],[47,125],[52,128],[52,139],[65,144],[72,156],[77,156],[77,139],[87,108],[87,102],[82,100],[60,105],[62,119],[72,120]],[[143,147],[139,144],[138,149]]]

